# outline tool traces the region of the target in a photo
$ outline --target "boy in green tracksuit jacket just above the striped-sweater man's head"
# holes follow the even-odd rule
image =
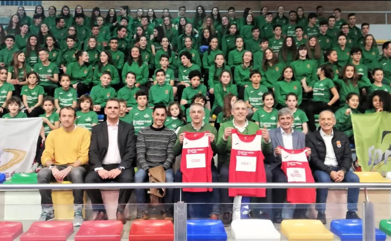
[[[157,84],[151,86],[149,89],[149,105],[151,107],[158,103],[169,105],[174,101],[174,94],[172,86],[165,83],[166,72],[162,69],[158,69],[155,72],[155,77]]]

